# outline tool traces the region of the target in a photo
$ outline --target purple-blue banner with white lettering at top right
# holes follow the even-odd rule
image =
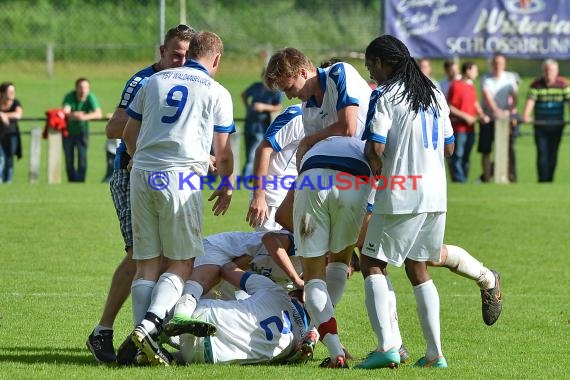
[[[416,57],[570,58],[567,0],[385,0],[386,33]]]

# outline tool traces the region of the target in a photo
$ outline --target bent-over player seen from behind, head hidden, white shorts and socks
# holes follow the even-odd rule
[[[370,168],[363,143],[341,136],[315,144],[300,167],[293,225],[296,254],[303,264],[305,307],[330,354],[322,366],[346,368],[333,308],[343,289],[336,289],[334,299],[327,289],[326,254],[331,252],[345,266],[350,263],[370,191]]]

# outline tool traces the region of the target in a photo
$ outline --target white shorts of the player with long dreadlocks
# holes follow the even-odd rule
[[[373,214],[361,253],[396,266],[406,259],[439,261],[445,216],[445,212]]]

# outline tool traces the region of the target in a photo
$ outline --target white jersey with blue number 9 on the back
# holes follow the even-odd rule
[[[228,90],[196,61],[148,78],[127,108],[142,121],[133,167],[146,171],[208,171],[214,132],[233,133]]]

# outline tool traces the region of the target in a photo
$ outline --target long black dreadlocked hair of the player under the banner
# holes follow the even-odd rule
[[[388,92],[394,87],[403,86],[403,91],[394,99],[396,104],[406,100],[416,113],[428,109],[437,112],[440,108],[434,93],[435,85],[420,71],[402,41],[384,34],[368,45],[365,56],[369,60],[380,58],[383,63],[392,66],[392,74],[382,83],[382,87]]]

